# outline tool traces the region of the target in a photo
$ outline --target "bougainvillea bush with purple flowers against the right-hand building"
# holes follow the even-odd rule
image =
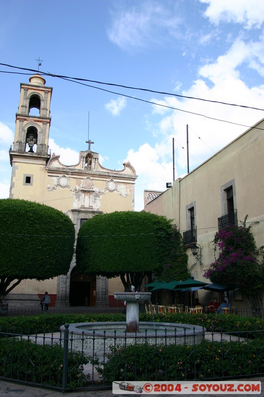
[[[229,226],[215,234],[214,251],[218,258],[204,276],[231,288],[240,288],[245,295],[256,295],[264,286],[263,250],[257,249],[250,226],[245,218],[241,226]],[[258,256],[262,255],[262,261]]]

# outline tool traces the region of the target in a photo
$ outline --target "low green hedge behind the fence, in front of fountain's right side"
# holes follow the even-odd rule
[[[94,360],[105,381],[175,381],[247,376],[264,371],[262,340],[193,345],[113,346],[108,361]]]

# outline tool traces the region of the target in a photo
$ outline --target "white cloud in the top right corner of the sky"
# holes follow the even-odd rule
[[[200,0],[209,4],[205,15],[212,23],[220,21],[245,24],[246,28],[260,28],[264,21],[262,0]]]

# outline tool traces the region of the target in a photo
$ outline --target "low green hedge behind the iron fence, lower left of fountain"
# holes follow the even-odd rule
[[[0,377],[62,387],[63,349],[59,345],[38,345],[29,339],[5,335],[0,338]],[[82,372],[89,362],[80,352],[68,354],[68,387],[86,384],[89,376]]]

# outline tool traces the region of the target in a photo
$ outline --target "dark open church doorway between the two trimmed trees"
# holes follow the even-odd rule
[[[96,276],[78,274],[76,267],[71,271],[69,303],[70,306],[95,306]]]

